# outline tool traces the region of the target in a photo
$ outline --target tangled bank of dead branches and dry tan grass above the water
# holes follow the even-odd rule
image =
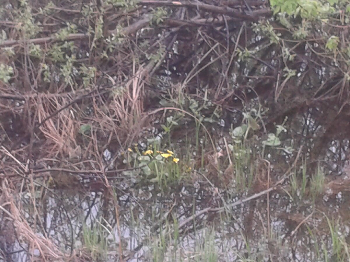
[[[159,126],[154,115],[169,111],[159,104],[163,99],[181,110],[188,109],[184,97],[210,100],[232,124],[240,123],[237,110],[258,101],[272,109],[264,116],[267,128],[311,107],[332,108],[336,116],[349,108],[349,69],[340,50],[349,45],[348,28],[341,14],[320,32],[320,24],[306,25],[315,29],[295,39],[297,26],[282,28],[260,0],[23,3],[7,1],[1,9],[7,39],[0,41],[0,64],[13,72],[0,68],[10,76],[0,79],[0,231],[14,231],[28,254],[37,249],[45,261],[86,261],[88,254],[73,246],[64,253],[49,236],[38,236],[40,223],[28,224],[15,196],[51,192],[50,170],[74,174],[82,190],[109,190],[109,181],[128,168],[120,154],[145,129]],[[341,48],[327,50],[324,34],[336,35]],[[317,146],[314,151],[316,159]],[[260,187],[271,186],[265,173],[259,179]],[[327,184],[336,192],[343,186]]]

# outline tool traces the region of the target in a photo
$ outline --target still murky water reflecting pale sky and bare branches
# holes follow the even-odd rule
[[[325,217],[339,219],[337,234],[345,240],[350,238],[350,210],[346,204],[350,200],[349,115],[345,109],[339,113],[339,108],[318,105],[302,112],[276,114],[275,119],[279,121],[286,116],[287,132],[281,140],[284,145],[293,146],[294,153],[267,150],[265,157],[271,162],[271,175],[276,181],[293,162],[297,148],[304,145],[308,175],[317,165],[326,174],[323,193],[315,203],[307,198],[292,198],[286,192],[286,185],[286,190],[278,189],[269,195],[269,209],[264,195],[223,213],[198,216],[179,228],[176,243],[166,236],[165,250],[159,246],[160,235],[169,230],[169,225],[176,221],[181,224],[207,207],[222,206],[222,198],[226,204],[234,203],[261,188],[246,192],[215,189],[197,177],[197,181],[186,180],[164,193],[154,185],[140,185],[132,179],[115,181],[111,185],[118,199],[120,231],[112,197],[101,190],[61,187],[53,189],[56,195],[41,190],[36,192],[36,210],[29,194],[23,193],[18,204],[22,205],[29,223],[34,224],[35,220],[36,233],[47,235],[65,252],[77,248],[86,251],[84,235],[99,232],[96,241],[101,243],[105,239],[105,245],[97,245],[101,250],[88,250],[96,261],[116,261],[119,246],[125,261],[152,261],[155,257],[158,261],[206,261],[208,250],[214,250],[212,261],[325,261],[321,247],[328,251],[328,261],[338,261],[332,257],[334,243]],[[267,124],[266,128],[273,127]],[[317,251],[315,243],[320,250]],[[30,257],[27,248],[14,240],[6,248],[7,252],[14,252],[8,259],[27,261],[39,255],[39,250],[35,250]]]

